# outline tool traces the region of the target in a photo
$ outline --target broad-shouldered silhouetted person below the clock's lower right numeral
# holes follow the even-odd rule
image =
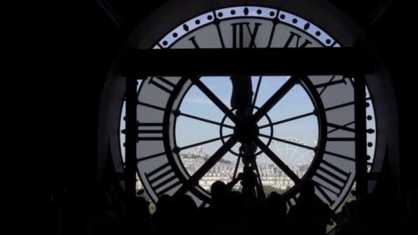
[[[314,181],[303,179],[299,192],[298,203],[290,208],[287,215],[288,234],[325,234],[331,210],[316,196]]]

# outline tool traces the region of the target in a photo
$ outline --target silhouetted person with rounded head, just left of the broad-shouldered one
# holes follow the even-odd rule
[[[265,234],[284,234],[286,230],[287,206],[285,198],[277,192],[271,192],[265,203]]]

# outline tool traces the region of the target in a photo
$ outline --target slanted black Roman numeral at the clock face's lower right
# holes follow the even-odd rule
[[[332,196],[330,194],[340,197],[342,190],[347,186],[350,175],[351,172],[345,172],[337,166],[330,164],[328,161],[322,160],[312,179],[317,183],[316,189],[318,189],[318,192],[325,198],[329,205],[332,205],[335,201],[331,198]]]

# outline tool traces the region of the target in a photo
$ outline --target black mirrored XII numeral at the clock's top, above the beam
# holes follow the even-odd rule
[[[243,48],[244,47],[244,28],[248,30],[250,34],[250,45],[248,48],[256,48],[255,39],[261,23],[255,23],[254,30],[251,31],[249,22],[232,23],[232,47]]]

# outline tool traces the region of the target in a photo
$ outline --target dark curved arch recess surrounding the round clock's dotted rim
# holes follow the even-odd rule
[[[135,29],[133,35],[129,37],[128,43],[133,47],[150,48],[168,30],[175,27],[178,22],[183,22],[190,16],[206,12],[214,8],[222,8],[234,4],[246,4],[248,1],[195,1],[177,0],[168,1],[162,7],[150,14],[140,26]],[[271,1],[259,0],[251,1],[254,5],[267,5],[276,8],[283,8],[296,14],[307,17],[310,21],[318,23],[324,27],[344,46],[352,46],[355,41],[366,38],[360,27],[355,25],[349,16],[337,8],[329,5],[327,1]],[[168,10],[169,9],[169,10]],[[175,12],[175,13],[172,13]],[[170,19],[167,21],[166,19]],[[378,57],[378,56],[376,56]],[[369,89],[375,102],[375,112],[377,115],[377,159],[383,159],[385,146],[389,146],[388,156],[390,157],[391,172],[395,172],[395,182],[399,181],[396,173],[399,169],[398,153],[398,133],[397,133],[397,111],[395,96],[391,85],[391,80],[386,73],[380,60],[376,61],[375,74],[367,77]],[[118,110],[121,109],[121,100],[124,93],[124,82],[119,75],[119,65],[115,63],[111,73],[107,78],[102,93],[100,103],[99,120],[99,155],[109,156],[107,153],[107,142],[110,142],[111,155],[115,164],[115,170],[122,172],[120,163],[119,143],[118,143],[118,122],[120,120]],[[99,162],[108,160],[99,159]],[[379,163],[377,163],[379,164]],[[380,163],[381,164],[381,163]],[[100,171],[99,171],[99,175]],[[394,184],[395,192],[399,183]]]

